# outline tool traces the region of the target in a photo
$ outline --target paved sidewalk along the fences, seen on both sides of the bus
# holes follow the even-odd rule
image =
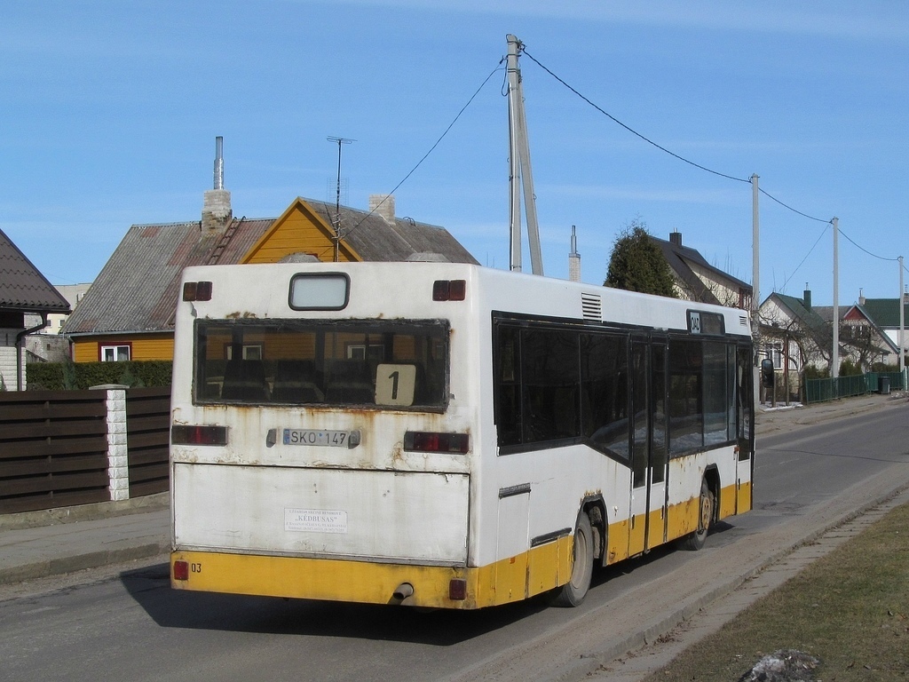
[[[760,437],[837,416],[903,405],[904,394],[872,394],[816,406],[758,406]],[[0,516],[0,585],[58,576],[85,568],[162,557],[170,551],[166,493],[109,502]]]

